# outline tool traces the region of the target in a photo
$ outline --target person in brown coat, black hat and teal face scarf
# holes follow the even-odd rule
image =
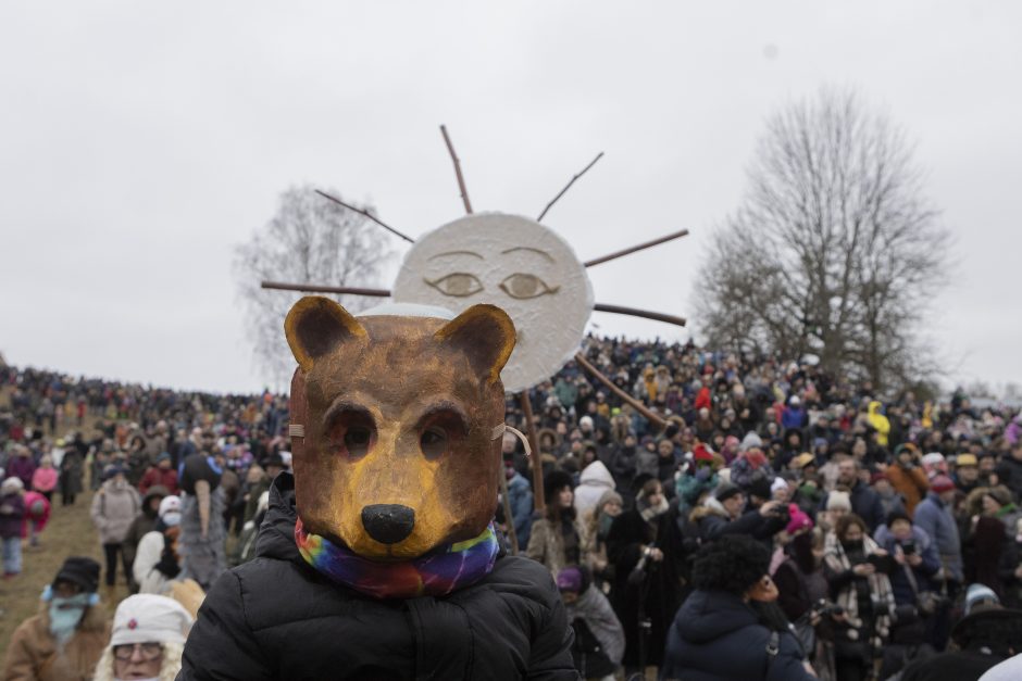
[[[42,592],[41,611],[11,636],[0,678],[90,681],[109,631],[98,587],[96,560],[77,556],[64,560]]]

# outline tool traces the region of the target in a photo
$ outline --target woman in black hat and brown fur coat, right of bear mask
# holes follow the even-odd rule
[[[533,521],[525,555],[545,565],[552,577],[562,568],[582,564],[582,529],[572,506],[571,476],[554,470],[543,487],[546,512]]]

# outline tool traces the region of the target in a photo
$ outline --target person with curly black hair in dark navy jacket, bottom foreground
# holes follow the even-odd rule
[[[700,551],[696,590],[668,634],[660,678],[665,681],[808,681],[805,660],[766,570],[770,553],[747,537],[725,537]]]

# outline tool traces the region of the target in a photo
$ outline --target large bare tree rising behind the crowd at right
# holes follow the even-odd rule
[[[949,238],[905,134],[824,89],[768,121],[748,179],[696,282],[709,341],[815,354],[878,387],[924,371],[920,327]]]

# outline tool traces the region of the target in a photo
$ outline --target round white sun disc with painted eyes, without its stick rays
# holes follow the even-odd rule
[[[454,314],[476,303],[503,308],[518,343],[500,377],[518,392],[553,376],[582,344],[593,287],[564,239],[527,217],[476,213],[412,245],[395,302],[439,305]]]

